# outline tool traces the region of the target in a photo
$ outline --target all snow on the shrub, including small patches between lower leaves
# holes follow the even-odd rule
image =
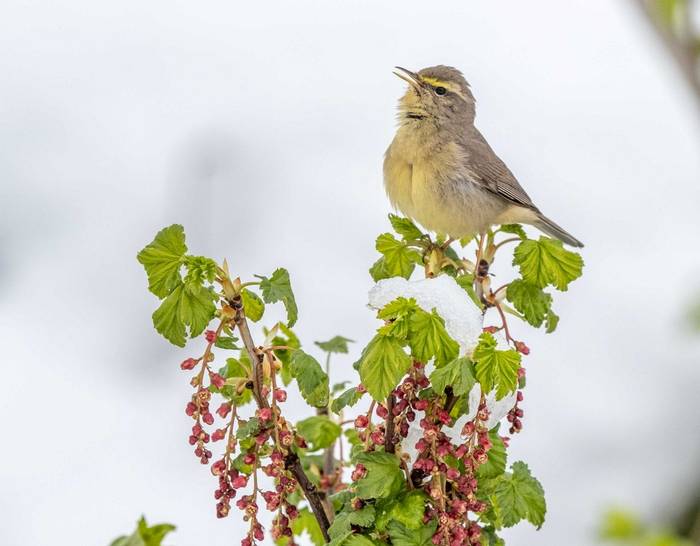
[[[369,305],[374,309],[381,309],[399,297],[415,299],[424,311],[431,312],[435,309],[445,320],[447,333],[459,344],[462,354],[471,355],[483,332],[484,315],[452,277],[440,275],[418,281],[408,281],[402,277],[381,280],[370,290]],[[494,337],[499,349],[509,348],[503,332],[496,332]],[[430,375],[433,369],[433,364],[428,363],[426,374]],[[516,391],[501,400],[496,400],[496,391],[485,395],[486,407],[489,410],[489,419],[486,422],[488,429],[492,429],[508,414],[515,405],[516,396]],[[462,442],[462,428],[476,417],[480,401],[481,385],[477,383],[469,392],[469,412],[460,416],[451,427],[442,429],[453,442]],[[409,455],[411,463],[415,463],[418,457],[415,445],[423,435],[419,423],[424,415],[424,412],[416,411],[416,419],[411,423],[408,436],[401,445],[403,452]]]

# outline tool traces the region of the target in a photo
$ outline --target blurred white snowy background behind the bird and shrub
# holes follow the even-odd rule
[[[369,339],[394,65],[461,68],[477,124],[583,239],[558,331],[526,326],[539,532],[595,541],[611,503],[673,514],[700,482],[697,111],[627,3],[90,2],[0,7],[0,543],[236,544],[187,444],[186,354],[151,326],[136,252],[185,225],[243,275],[287,267],[312,341]],[[507,260],[497,264],[508,273]],[[336,359],[352,377],[356,355]],[[301,412],[301,407],[297,407]]]

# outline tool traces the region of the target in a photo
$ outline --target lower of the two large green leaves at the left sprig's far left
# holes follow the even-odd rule
[[[214,314],[216,294],[199,284],[178,285],[153,313],[153,326],[173,345],[184,347],[186,326],[190,337],[197,337]]]

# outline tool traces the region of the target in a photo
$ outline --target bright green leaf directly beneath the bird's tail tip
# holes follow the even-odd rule
[[[581,276],[583,258],[566,250],[561,241],[540,237],[520,243],[513,254],[513,265],[520,267],[523,279],[540,288],[548,284],[567,290],[569,283]]]

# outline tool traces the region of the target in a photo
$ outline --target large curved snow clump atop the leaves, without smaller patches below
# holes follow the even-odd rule
[[[435,309],[445,320],[447,333],[459,343],[463,354],[471,354],[479,342],[484,315],[449,275],[418,281],[407,281],[402,277],[381,280],[369,292],[369,305],[381,309],[398,297],[415,299],[424,311]]]

